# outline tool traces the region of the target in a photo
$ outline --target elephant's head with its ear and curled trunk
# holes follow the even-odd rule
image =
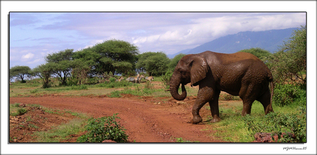
[[[190,86],[198,85],[198,82],[206,77],[208,70],[207,61],[201,56],[189,54],[181,58],[170,80],[169,91],[172,97],[178,101],[185,99],[187,96],[185,85],[188,83],[191,83]],[[182,93],[179,95],[178,88],[181,84]]]

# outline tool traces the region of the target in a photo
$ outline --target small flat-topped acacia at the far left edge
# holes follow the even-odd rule
[[[27,75],[27,76],[31,75],[30,67],[27,67],[27,66],[15,66],[15,67],[12,67],[9,70],[10,78],[16,77],[16,78],[21,80],[21,83],[25,82],[24,81],[25,75]]]

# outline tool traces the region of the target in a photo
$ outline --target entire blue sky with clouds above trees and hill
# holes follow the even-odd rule
[[[48,53],[110,39],[172,54],[228,34],[305,24],[305,12],[10,12],[10,67],[32,69]]]

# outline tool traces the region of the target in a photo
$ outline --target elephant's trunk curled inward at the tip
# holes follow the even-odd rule
[[[181,85],[181,82],[177,82],[173,75],[170,81],[170,93],[172,97],[178,101],[184,100],[187,96],[187,92],[186,92],[184,84],[182,84],[182,94],[181,95],[178,94],[178,88],[180,85]]]

